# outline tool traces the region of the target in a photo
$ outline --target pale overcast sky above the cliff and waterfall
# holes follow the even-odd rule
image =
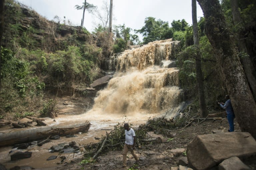
[[[72,25],[80,26],[83,10],[76,10],[75,5],[82,5],[84,0],[18,0],[31,7],[48,20],[59,16],[69,19]],[[106,0],[105,0],[106,1]],[[110,0],[107,0],[109,3]],[[87,0],[101,9],[104,0]],[[203,16],[200,6],[197,4],[197,18]],[[146,17],[154,17],[162,21],[168,21],[169,26],[173,20],[185,19],[192,25],[191,0],[113,0],[113,25],[125,24],[131,29],[140,29],[144,26]],[[84,27],[93,31],[98,22],[91,14],[85,13]]]

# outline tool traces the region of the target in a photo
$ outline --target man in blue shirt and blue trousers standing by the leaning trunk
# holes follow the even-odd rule
[[[226,109],[228,123],[229,123],[229,130],[228,131],[231,132],[231,131],[234,131],[235,114],[234,114],[234,111],[233,111],[233,107],[231,105],[229,95],[226,95],[225,99],[227,100],[225,104],[224,103],[218,103],[218,104],[220,104],[220,107],[222,107],[223,109]]]

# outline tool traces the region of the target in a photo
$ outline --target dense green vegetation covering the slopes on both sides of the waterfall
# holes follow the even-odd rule
[[[255,68],[255,1],[240,1],[242,23],[234,25],[229,0],[222,0],[222,10],[234,37],[244,34],[248,54]],[[48,21],[35,11],[13,0],[5,1],[5,26],[2,44],[0,117],[41,114],[54,110],[54,100],[46,96],[47,90],[72,91],[78,85],[88,86],[101,76],[104,60],[129,45],[146,44],[172,38],[180,41],[176,62],[179,77],[187,99],[198,106],[195,51],[192,26],[182,19],[168,22],[147,17],[145,25],[134,30],[143,35],[140,42],[132,29],[115,26],[112,33],[99,25],[93,33],[85,28]],[[204,90],[209,111],[218,110],[216,101],[227,93],[223,76],[216,62],[216,53],[205,34],[205,19],[198,21],[199,49],[202,61]],[[245,53],[239,56],[248,57]],[[69,93],[70,94],[70,93]],[[31,109],[27,109],[27,108]]]

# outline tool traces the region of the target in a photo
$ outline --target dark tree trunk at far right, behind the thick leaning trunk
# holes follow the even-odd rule
[[[240,52],[244,52],[245,54],[248,54],[247,48],[246,48],[246,41],[245,37],[241,34],[242,31],[242,20],[240,18],[240,12],[238,10],[238,1],[237,0],[230,0],[231,3],[231,10],[232,10],[232,15],[233,15],[233,21],[235,25],[238,25],[238,48]],[[250,59],[250,57],[247,56],[242,56],[242,63],[244,66],[244,70],[247,76],[247,80],[249,82],[249,85],[251,87],[252,93],[254,100],[256,100],[256,71],[254,69],[253,63]]]

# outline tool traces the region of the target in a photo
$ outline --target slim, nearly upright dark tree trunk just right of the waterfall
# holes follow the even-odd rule
[[[196,47],[196,81],[199,94],[199,107],[200,116],[206,118],[208,115],[205,103],[204,95],[204,84],[203,84],[203,72],[202,72],[202,62],[199,55],[199,37],[198,37],[198,26],[196,17],[196,0],[192,0],[192,21],[193,21],[193,35],[194,35],[194,45]]]

